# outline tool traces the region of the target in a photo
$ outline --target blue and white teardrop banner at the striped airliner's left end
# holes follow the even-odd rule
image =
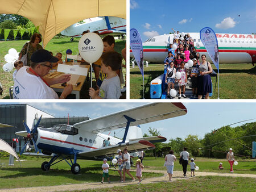
[[[134,58],[139,66],[139,70],[141,70],[142,77],[144,78],[143,71],[143,47],[141,41],[141,35],[135,28],[131,28],[130,30],[130,47],[133,52]]]

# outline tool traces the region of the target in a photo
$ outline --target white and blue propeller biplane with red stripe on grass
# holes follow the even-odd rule
[[[166,141],[166,137],[163,136],[138,137],[136,130],[129,130],[130,126],[185,114],[187,114],[187,108],[182,103],[150,103],[86,120],[73,124],[73,126],[57,124],[51,128],[42,128],[39,127],[41,116],[32,130],[23,122],[26,131],[19,131],[15,134],[23,136],[27,140],[20,154],[30,144],[34,146],[36,153],[23,153],[24,155],[51,157],[49,162],[44,161],[42,163],[42,170],[47,171],[52,165],[65,160],[71,166],[71,172],[78,174],[81,168],[77,164],[77,159],[102,160],[107,158],[112,160],[117,149],[127,147],[129,153],[133,153],[154,149],[154,143]],[[125,129],[122,140],[103,133],[119,128]],[[129,131],[131,131],[130,135],[133,136],[128,136]],[[103,142],[108,137],[110,137],[110,145],[103,147]],[[39,153],[39,149],[43,154]],[[67,158],[71,163],[67,161]]]

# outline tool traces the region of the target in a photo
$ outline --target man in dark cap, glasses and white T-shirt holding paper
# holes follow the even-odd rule
[[[52,68],[52,62],[57,62],[57,60],[45,49],[34,52],[31,56],[31,65],[23,66],[16,73],[14,99],[58,99],[58,95],[49,86],[68,82],[71,75],[64,74],[56,78],[44,77]],[[72,89],[72,85],[67,85],[61,93],[60,99],[65,99]]]

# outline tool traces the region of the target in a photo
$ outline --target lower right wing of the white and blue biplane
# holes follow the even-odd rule
[[[80,152],[79,156],[81,157],[100,157],[100,156],[110,156],[117,153],[117,149],[128,148],[129,153],[133,153],[136,151],[144,151],[151,150],[155,148],[155,145],[150,143],[149,141],[139,140],[139,141],[131,141],[128,143],[121,143],[117,145],[110,145],[108,147],[103,147],[100,149],[93,149],[91,151]]]

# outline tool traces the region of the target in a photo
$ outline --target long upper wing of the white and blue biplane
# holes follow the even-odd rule
[[[124,115],[135,119],[135,122],[131,122],[130,126],[137,126],[138,124],[174,118],[185,114],[187,114],[187,108],[182,103],[150,103],[99,118],[86,120],[76,123],[73,126],[94,133],[102,133],[126,127],[127,120]]]

